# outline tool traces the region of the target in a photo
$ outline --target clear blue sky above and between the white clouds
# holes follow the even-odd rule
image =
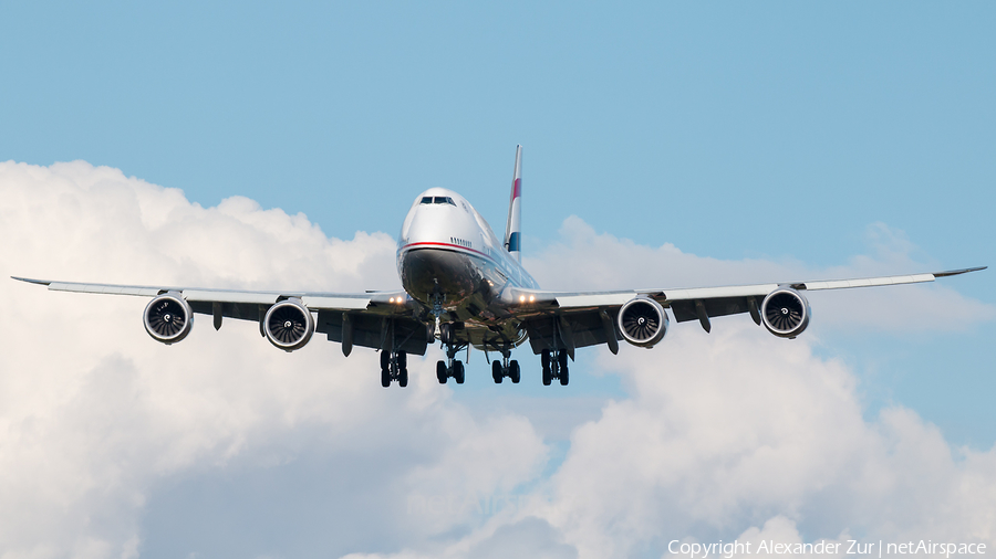
[[[395,235],[435,186],[500,229],[522,144],[527,257],[569,245],[564,220],[577,215],[622,246],[671,243],[704,265],[832,275],[862,257],[896,274],[996,264],[992,3],[103,2],[0,14],[0,160],[82,159],[205,208],[242,196],[303,212],[351,240]],[[699,277],[670,272],[641,286]],[[945,285],[992,306],[993,274]],[[761,280],[800,278],[705,283]],[[993,447],[992,318],[957,327],[943,323],[956,313],[925,305],[911,313],[919,328],[855,317],[820,329],[836,310],[811,302],[813,351],[850,368],[865,418],[899,403],[953,446]],[[594,405],[579,409],[632,393],[625,376],[589,373],[605,369],[592,362],[572,376]],[[491,407],[556,405],[562,394],[541,388]],[[511,390],[468,386],[455,398],[488,408]],[[556,455],[566,437],[548,437]],[[349,462],[319,454],[294,467]],[[266,478],[198,473],[180,476],[193,479],[186,500],[153,500],[154,551],[174,534],[170,507],[212,487],[232,510],[242,500],[226,492]]]

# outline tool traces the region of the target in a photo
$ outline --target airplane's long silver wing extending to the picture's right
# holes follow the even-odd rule
[[[512,305],[513,314],[522,320],[527,328],[530,342],[536,352],[543,349],[563,348],[569,354],[573,354],[574,348],[598,344],[608,344],[612,352],[615,352],[619,348],[618,340],[625,339],[618,324],[620,309],[627,303],[639,298],[652,299],[660,304],[661,307],[671,308],[674,319],[678,323],[697,319],[702,327],[709,331],[712,329],[710,318],[739,313],[750,313],[754,321],[758,325],[761,324],[761,308],[765,298],[776,291],[788,289],[798,293],[915,284],[985,268],[986,266],[981,266],[930,274],[675,289],[616,292],[511,291],[506,295],[506,299]],[[805,302],[805,298],[801,300],[801,304],[807,307],[805,318],[808,320],[808,304]],[[515,305],[518,305],[518,308],[515,308]],[[664,319],[666,320],[666,317]],[[805,328],[805,325],[802,328]],[[771,331],[779,336],[782,335],[776,330],[777,326]]]

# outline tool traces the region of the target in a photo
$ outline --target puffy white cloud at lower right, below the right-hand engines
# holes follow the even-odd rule
[[[953,455],[903,408],[864,421],[851,373],[805,342],[753,325],[714,336],[678,330],[666,349],[601,363],[633,398],[574,433],[543,515],[581,557],[689,535],[732,540],[779,515],[810,538],[994,542],[996,450]]]

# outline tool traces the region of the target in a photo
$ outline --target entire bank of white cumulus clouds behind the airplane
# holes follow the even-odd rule
[[[0,187],[3,276],[396,285],[388,235],[329,239],[302,214],[245,198],[201,208],[178,190],[82,161],[0,164]],[[527,265],[550,288],[922,270],[901,232],[871,231],[870,255],[810,270],[642,246],[572,218],[560,244]],[[966,327],[993,313],[941,284],[868,292],[890,313],[940,305],[947,313],[941,326]],[[817,306],[816,295],[811,302],[813,328],[845,320],[910,328]],[[671,540],[865,536],[996,545],[996,449],[954,449],[902,407],[867,419],[844,363],[815,355],[807,337],[777,339],[749,319],[717,320],[708,336],[675,328],[652,351],[588,352],[596,372],[619,376],[625,395],[604,398],[595,416],[564,414],[574,424],[558,428],[570,437],[558,461],[529,416],[500,405],[471,409],[440,387],[437,356],[411,361],[406,390],[384,390],[374,352],[345,359],[315,340],[284,354],[252,323],[226,320],[216,333],[199,317],[183,344],[156,344],[139,325],[145,303],[0,281],[3,557],[135,557],[152,545],[144,515],[165,500],[164,488],[242,479],[247,471],[303,477],[295,486],[304,488],[284,503],[277,528],[243,527],[236,538],[218,528],[219,517],[240,514],[242,500],[214,516],[175,510],[218,531],[212,555],[661,557]],[[570,405],[540,400],[532,404]],[[303,464],[314,456],[318,466]],[[236,483],[235,495],[251,493],[250,481]],[[313,495],[320,506],[310,505]],[[307,531],[312,547],[295,548],[280,529]],[[176,552],[157,549],[198,551],[184,544],[169,548]]]

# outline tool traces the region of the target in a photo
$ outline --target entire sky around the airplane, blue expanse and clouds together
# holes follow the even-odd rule
[[[0,4],[0,276],[398,285],[429,187],[546,288],[996,262],[996,9]],[[674,557],[996,546],[993,271],[384,390],[376,355],[0,282],[0,557]],[[938,515],[937,511],[943,511]]]

